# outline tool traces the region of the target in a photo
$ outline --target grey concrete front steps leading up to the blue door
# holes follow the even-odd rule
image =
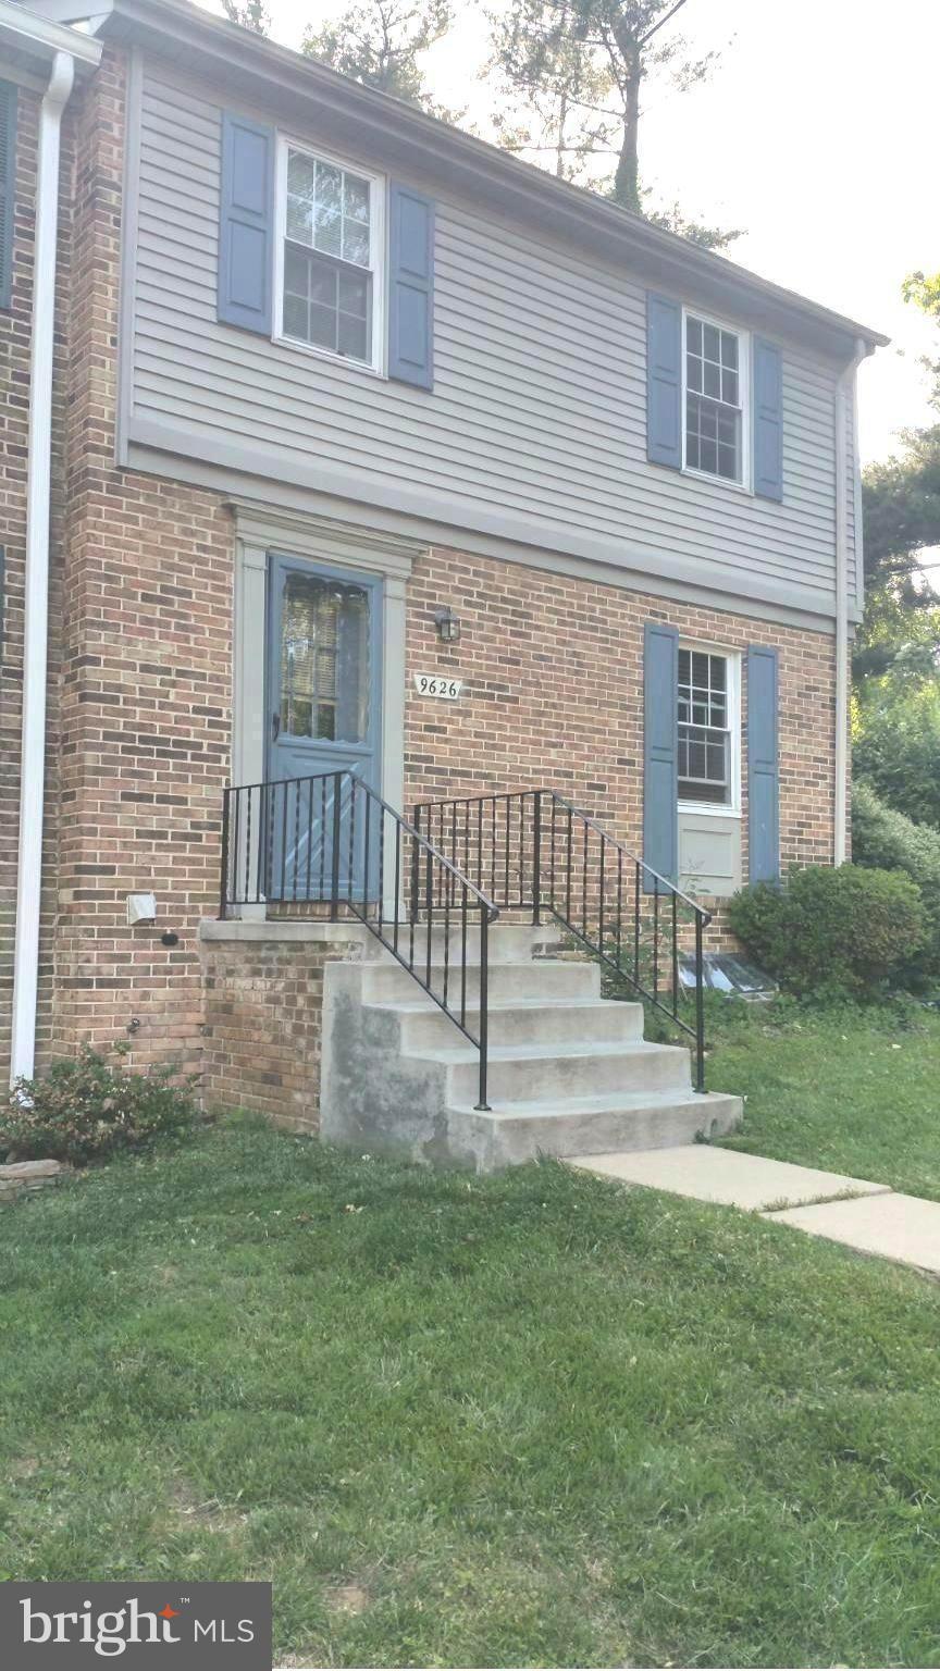
[[[323,1136],[366,1153],[492,1171],[537,1155],[602,1155],[686,1145],[733,1130],[741,1100],[692,1091],[686,1048],[642,1038],[642,1006],[600,998],[594,962],[552,956],[552,927],[490,929],[488,1110],[478,1051],[371,936],[358,962],[330,962],[323,994]],[[410,954],[410,942],[401,941]],[[468,934],[468,956],[478,957]],[[415,961],[425,976],[428,936]],[[430,937],[443,994],[445,941]],[[447,984],[462,994],[460,939]],[[467,969],[467,1028],[478,1029],[480,969]]]

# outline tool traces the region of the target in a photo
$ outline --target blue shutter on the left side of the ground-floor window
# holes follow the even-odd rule
[[[679,633],[647,622],[642,653],[642,857],[674,882],[679,872]],[[646,877],[644,891],[654,882]]]

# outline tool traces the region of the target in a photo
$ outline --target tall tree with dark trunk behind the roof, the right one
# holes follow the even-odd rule
[[[677,209],[644,211],[639,175],[641,87],[666,72],[686,89],[702,80],[718,53],[689,55],[667,25],[686,0],[508,0],[488,13],[492,74],[513,115],[497,117],[498,142],[549,155],[555,174],[590,184],[594,159],[609,157],[607,194],[706,247],[736,232],[686,221]]]

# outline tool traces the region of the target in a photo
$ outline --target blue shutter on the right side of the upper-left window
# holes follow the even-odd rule
[[[432,389],[435,374],[435,206],[393,182],[390,192],[388,376]]]

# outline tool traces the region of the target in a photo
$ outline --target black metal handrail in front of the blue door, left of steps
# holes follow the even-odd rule
[[[219,917],[259,904],[328,904],[330,921],[343,907],[363,922],[477,1048],[477,1108],[488,1108],[488,931],[498,906],[375,789],[348,770],[226,789]],[[477,916],[473,1028],[467,932]],[[442,962],[432,956],[435,926]]]

